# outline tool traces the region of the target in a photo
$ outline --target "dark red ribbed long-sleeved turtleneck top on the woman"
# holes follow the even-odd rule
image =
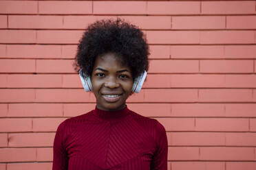
[[[167,170],[167,135],[156,121],[127,107],[96,108],[63,121],[54,138],[53,170]]]

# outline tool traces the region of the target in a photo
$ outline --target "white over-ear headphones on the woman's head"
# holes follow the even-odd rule
[[[83,88],[85,88],[85,91],[87,92],[92,91],[91,77],[85,75],[85,73],[83,73],[81,69],[79,70],[79,75],[80,75],[81,82],[83,84]],[[134,79],[134,84],[131,89],[132,92],[135,92],[135,93],[140,92],[142,85],[145,82],[146,76],[147,76],[147,71],[144,71],[144,73],[141,73],[140,76]]]

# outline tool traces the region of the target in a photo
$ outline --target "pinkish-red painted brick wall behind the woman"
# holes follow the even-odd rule
[[[129,108],[158,119],[169,170],[256,169],[256,1],[0,1],[0,169],[51,169],[61,121],[94,108],[72,68],[88,23],[121,16],[150,44]],[[160,111],[157,111],[160,110]]]

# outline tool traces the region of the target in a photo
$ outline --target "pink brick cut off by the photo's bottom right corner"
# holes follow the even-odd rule
[[[256,168],[256,162],[226,162],[226,170],[254,170]]]

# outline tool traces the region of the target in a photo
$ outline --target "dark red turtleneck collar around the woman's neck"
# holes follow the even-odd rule
[[[129,109],[127,106],[121,110],[115,110],[115,111],[105,111],[105,110],[100,110],[97,107],[95,107],[95,110],[93,114],[96,117],[99,117],[100,119],[111,121],[111,120],[117,120],[117,119],[122,119],[129,115]]]

